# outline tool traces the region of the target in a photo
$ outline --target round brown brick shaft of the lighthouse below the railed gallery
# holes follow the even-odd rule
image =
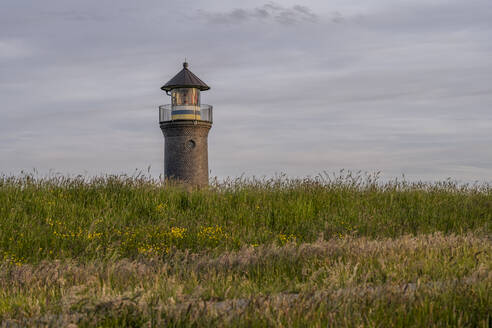
[[[164,175],[193,186],[208,185],[208,132],[211,123],[161,123],[164,134]]]

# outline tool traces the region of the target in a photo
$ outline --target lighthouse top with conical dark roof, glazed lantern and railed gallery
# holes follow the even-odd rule
[[[212,121],[212,106],[201,105],[200,91],[210,87],[188,69],[183,69],[167,82],[162,90],[171,97],[171,104],[160,106],[160,121],[195,120]]]

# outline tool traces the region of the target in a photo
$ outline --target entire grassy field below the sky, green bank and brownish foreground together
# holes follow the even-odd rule
[[[4,326],[492,325],[492,186],[0,177]]]

